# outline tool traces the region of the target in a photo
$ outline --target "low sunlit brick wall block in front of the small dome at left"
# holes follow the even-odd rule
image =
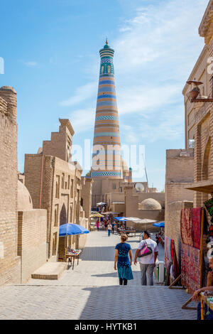
[[[46,210],[18,211],[18,255],[21,256],[21,283],[47,259]]]

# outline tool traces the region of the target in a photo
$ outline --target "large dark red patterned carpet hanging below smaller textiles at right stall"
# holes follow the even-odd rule
[[[200,249],[182,244],[181,281],[190,293],[200,289]]]

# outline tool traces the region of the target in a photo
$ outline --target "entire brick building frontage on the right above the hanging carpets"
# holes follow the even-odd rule
[[[204,37],[205,45],[187,81],[203,82],[199,85],[198,98],[205,100],[213,96],[213,0],[209,1],[199,33]],[[213,192],[213,103],[191,102],[188,96],[191,89],[185,84],[182,91],[185,149],[168,150],[166,159],[165,235],[175,239],[179,259],[181,209],[202,207]]]

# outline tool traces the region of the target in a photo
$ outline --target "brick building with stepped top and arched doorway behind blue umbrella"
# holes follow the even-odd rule
[[[72,162],[71,148],[74,130],[69,119],[60,119],[60,129],[52,132],[50,141],[43,141],[37,154],[26,154],[24,175],[33,208],[47,210],[48,259],[58,260],[60,225],[68,222],[87,227],[81,208],[82,168]],[[73,236],[71,246],[78,248],[84,236]],[[61,247],[60,247],[61,248]]]

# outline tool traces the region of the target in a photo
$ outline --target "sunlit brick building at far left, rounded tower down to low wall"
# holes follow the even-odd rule
[[[46,261],[46,210],[33,210],[17,171],[16,104],[13,87],[1,87],[0,285],[25,283]]]

